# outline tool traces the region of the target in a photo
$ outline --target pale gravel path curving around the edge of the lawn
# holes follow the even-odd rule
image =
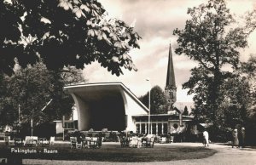
[[[175,143],[170,145],[188,145],[188,146],[201,146],[200,143]],[[226,145],[216,145],[211,144],[210,148],[218,151],[213,156],[209,156],[203,159],[189,159],[181,161],[170,161],[170,162],[93,162],[93,161],[51,161],[51,160],[23,160],[24,164],[46,164],[46,165],[81,165],[81,164],[91,164],[91,165],[109,165],[109,164],[170,164],[170,165],[256,165],[256,150],[245,148],[237,149],[231,148]]]

